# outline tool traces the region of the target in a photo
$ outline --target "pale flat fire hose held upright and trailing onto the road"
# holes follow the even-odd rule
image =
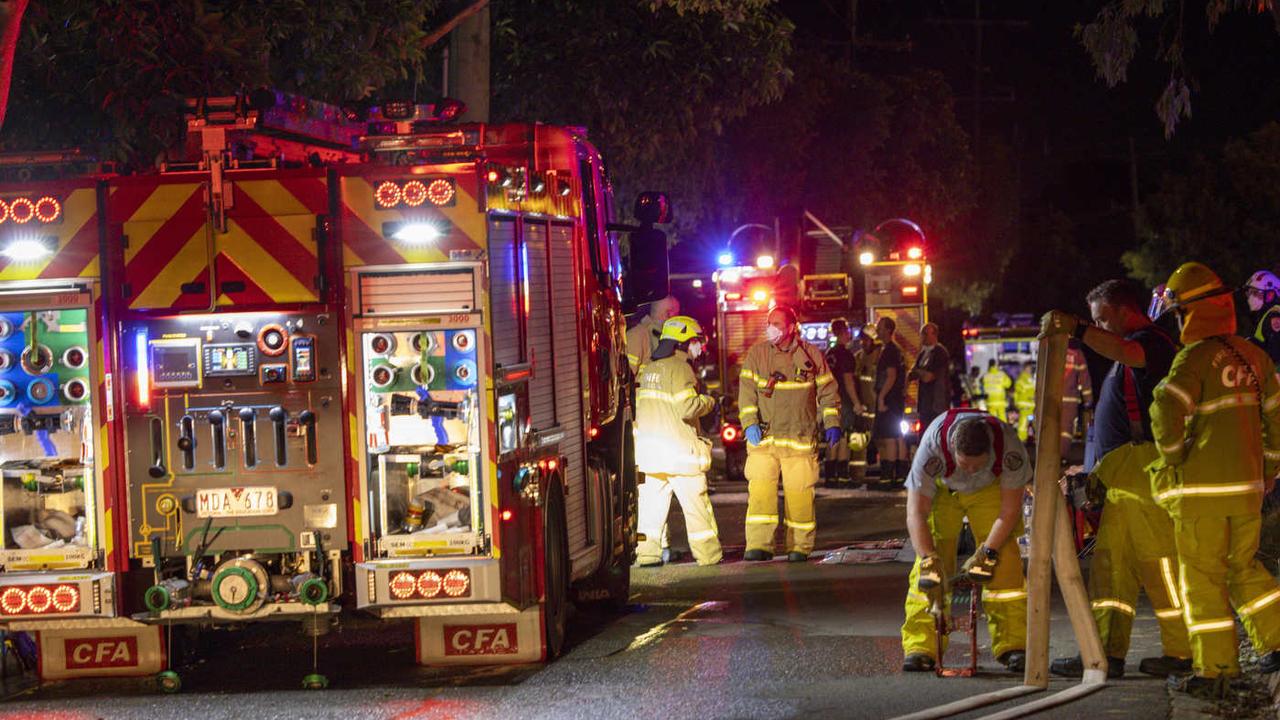
[[[1041,340],[1036,388],[1037,438],[1060,437],[1061,415],[1059,407],[1062,404],[1065,364],[1066,337],[1051,336]],[[1084,588],[1084,578],[1075,556],[1065,498],[1057,487],[1060,465],[1061,448],[1057,442],[1038,442],[1036,445],[1030,560],[1027,569],[1027,670],[1023,684],[902,715],[897,720],[950,717],[1048,688],[1050,600],[1053,589],[1051,577],[1053,570],[1056,570],[1057,582],[1066,601],[1075,642],[1080,648],[1084,678],[1079,685],[1034,702],[987,715],[986,720],[1023,717],[1071,702],[1105,687],[1106,655],[1102,650],[1102,641],[1098,638],[1098,628],[1089,609],[1089,596]],[[941,660],[940,656],[940,666]]]

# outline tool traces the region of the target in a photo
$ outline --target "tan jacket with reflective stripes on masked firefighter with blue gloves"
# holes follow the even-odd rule
[[[773,382],[773,373],[781,379]],[[772,392],[768,389],[773,383]],[[768,396],[767,396],[768,395]],[[780,451],[814,452],[819,424],[840,427],[840,393],[822,352],[796,340],[791,350],[760,341],[746,351],[737,383],[742,427],[765,427],[764,442]]]

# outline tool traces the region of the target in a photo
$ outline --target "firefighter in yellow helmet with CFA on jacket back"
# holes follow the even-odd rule
[[[1151,406],[1156,502],[1174,519],[1183,618],[1194,671],[1170,684],[1212,696],[1240,673],[1240,616],[1261,670],[1280,670],[1280,587],[1258,562],[1262,496],[1280,469],[1280,383],[1256,345],[1235,337],[1235,302],[1213,270],[1187,263],[1165,287],[1183,348]]]

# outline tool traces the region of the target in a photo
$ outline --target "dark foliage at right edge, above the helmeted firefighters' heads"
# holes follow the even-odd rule
[[[1187,260],[1242,284],[1260,268],[1280,264],[1280,123],[1196,158],[1170,173],[1144,204],[1142,243],[1124,254],[1129,273],[1156,286]]]

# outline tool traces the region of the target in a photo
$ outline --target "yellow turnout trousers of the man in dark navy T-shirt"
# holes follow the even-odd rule
[[[1190,657],[1183,603],[1178,594],[1172,523],[1148,523],[1144,514],[1124,510],[1124,506],[1103,509],[1089,565],[1089,603],[1098,623],[1102,648],[1107,657],[1123,660],[1129,653],[1129,634],[1140,588],[1160,621],[1164,655]],[[1164,512],[1155,505],[1152,510]],[[1162,556],[1144,555],[1143,546],[1152,542],[1167,544],[1167,552]]]

